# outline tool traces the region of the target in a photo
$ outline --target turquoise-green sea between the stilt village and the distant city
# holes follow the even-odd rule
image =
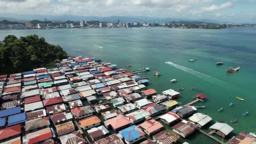
[[[7,35],[19,37],[30,34],[60,45],[70,56],[100,57],[123,68],[132,64],[133,67],[127,68],[129,71],[149,67],[151,71],[141,75],[149,78],[149,88],[158,93],[170,88],[176,91],[184,88],[177,99],[183,104],[193,101],[192,96],[204,93],[208,101],[194,105],[206,106],[198,112],[213,118],[213,122],[205,126],[205,131],[215,120],[222,119],[234,128],[232,135],[240,131],[256,132],[256,27],[219,30],[160,27],[1,30],[0,40]],[[195,63],[188,62],[196,58]],[[224,62],[224,65],[216,66],[217,61]],[[225,72],[228,67],[238,66],[241,69],[235,75]],[[153,71],[162,75],[155,77]],[[171,84],[171,79],[178,82]],[[245,101],[239,101],[235,96]],[[232,107],[229,107],[230,102],[233,102]],[[220,107],[224,110],[218,112]],[[244,117],[244,111],[249,115]],[[235,118],[240,127],[229,122]],[[191,144],[216,143],[199,132],[180,142],[183,141]]]

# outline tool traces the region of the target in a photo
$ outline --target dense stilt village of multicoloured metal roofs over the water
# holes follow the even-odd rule
[[[181,104],[182,89],[147,88],[148,78],[139,75],[149,68],[127,72],[85,56],[56,66],[0,76],[1,144],[172,144],[195,131],[220,144],[256,144],[255,133],[230,136],[234,125],[209,125],[213,118],[197,112],[204,106],[192,106],[206,101],[205,94]]]

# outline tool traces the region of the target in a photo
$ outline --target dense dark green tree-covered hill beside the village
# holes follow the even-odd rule
[[[43,37],[8,35],[0,44],[0,73],[30,71],[65,58],[67,53],[59,45],[51,45]]]

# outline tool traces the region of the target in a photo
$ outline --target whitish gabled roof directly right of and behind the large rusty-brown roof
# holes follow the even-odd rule
[[[192,122],[198,123],[201,126],[204,126],[207,123],[209,123],[212,120],[212,118],[209,117],[208,115],[204,115],[198,112],[192,115],[191,117],[189,117],[189,120]]]

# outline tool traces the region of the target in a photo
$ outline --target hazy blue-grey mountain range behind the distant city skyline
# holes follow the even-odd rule
[[[48,15],[28,15],[28,14],[0,14],[0,21],[3,19],[8,21],[19,21],[19,22],[28,22],[33,19],[38,19],[43,21],[47,19],[48,21],[107,21],[107,22],[117,22],[120,19],[120,22],[172,22],[172,21],[203,21],[205,23],[235,23],[232,21],[215,21],[210,19],[180,19],[180,18],[156,18],[156,17],[147,17],[147,16],[108,16],[108,17],[98,17],[98,16],[75,16],[75,15],[58,15],[58,16],[48,16]]]

